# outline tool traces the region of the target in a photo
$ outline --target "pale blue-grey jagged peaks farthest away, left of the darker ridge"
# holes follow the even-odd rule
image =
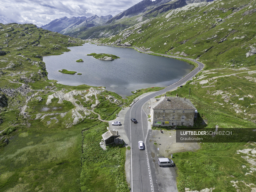
[[[112,15],[100,17],[97,15],[92,17],[63,17],[51,21],[49,24],[42,26],[42,28],[59,32],[61,34],[67,34],[69,31],[74,29],[79,30],[80,28],[83,28],[83,30],[85,30],[90,27],[103,25],[111,18]]]

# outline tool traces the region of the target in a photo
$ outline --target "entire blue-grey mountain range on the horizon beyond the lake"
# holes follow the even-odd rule
[[[82,39],[98,38],[115,35],[120,32],[120,30],[131,27],[136,23],[159,16],[164,12],[183,7],[187,4],[210,1],[213,0],[143,0],[114,17],[112,17],[112,15],[101,17],[94,15],[89,18],[84,16],[72,18],[63,17],[51,21],[49,24],[42,26],[42,28]],[[136,18],[136,20],[124,20],[125,18],[132,18],[134,16],[140,17]],[[108,32],[104,33],[106,29]]]

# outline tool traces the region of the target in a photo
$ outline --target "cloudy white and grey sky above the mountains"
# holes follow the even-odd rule
[[[3,0],[0,23],[33,23],[38,27],[64,16],[115,16],[142,0]]]

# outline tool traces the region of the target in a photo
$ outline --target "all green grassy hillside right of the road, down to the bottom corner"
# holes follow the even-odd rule
[[[213,1],[168,11],[92,41],[203,62],[199,74],[166,94],[188,98],[191,90],[189,99],[199,113],[194,128],[255,129],[255,20],[254,0]],[[173,154],[179,192],[255,190],[255,142],[199,145],[195,152]]]

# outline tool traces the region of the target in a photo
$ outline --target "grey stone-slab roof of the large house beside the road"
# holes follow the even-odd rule
[[[195,106],[189,99],[180,97],[161,97],[150,99],[152,109],[192,109],[196,110]]]

